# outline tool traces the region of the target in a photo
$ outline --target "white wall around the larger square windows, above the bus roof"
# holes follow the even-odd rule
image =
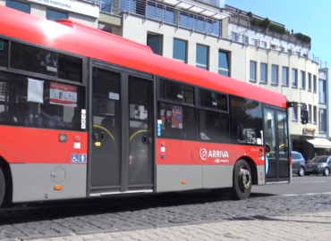
[[[127,37],[141,44],[147,44],[148,32],[163,36],[163,55],[173,58],[174,37],[188,41],[188,64],[195,66],[196,45],[209,46],[209,71],[218,72],[218,50],[231,52],[230,71],[234,79],[245,79],[244,66],[245,46],[227,39],[205,36],[189,29],[176,29],[174,26],[161,25],[158,21],[142,20],[138,16],[129,15],[123,18],[123,37]]]

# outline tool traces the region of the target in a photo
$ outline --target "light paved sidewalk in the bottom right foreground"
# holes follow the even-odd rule
[[[331,240],[331,212],[291,216],[255,217],[251,220],[225,220],[216,223],[142,229],[85,236],[34,239],[34,241],[182,241],[182,240]]]

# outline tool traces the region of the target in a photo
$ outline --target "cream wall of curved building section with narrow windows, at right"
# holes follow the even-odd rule
[[[250,80],[250,61],[257,62],[257,80]],[[260,81],[260,62],[267,63],[267,83]],[[278,83],[271,83],[272,76],[272,64],[278,66]],[[248,54],[246,59],[246,81],[258,85],[259,87],[265,87],[267,89],[276,91],[278,93],[284,94],[289,101],[295,101],[299,103],[311,104],[311,106],[318,106],[318,93],[313,92],[313,76],[315,75],[318,79],[318,64],[312,62],[309,59],[299,57],[297,55],[285,54],[276,50],[263,49],[255,46],[248,47]],[[283,67],[288,67],[288,85],[284,85],[282,82],[282,69]],[[293,86],[292,70],[296,69],[297,72],[297,87]],[[305,89],[301,89],[301,79],[300,71],[305,71]],[[308,73],[311,74],[311,90],[308,90]],[[318,85],[318,82],[317,82]],[[293,120],[293,112],[290,110],[289,123],[291,135],[302,135],[303,128],[315,129],[315,136],[318,136],[318,114],[317,123],[308,123],[307,125],[302,125],[300,122],[300,111],[297,111],[297,120]],[[313,107],[311,107],[311,119],[313,119]]]

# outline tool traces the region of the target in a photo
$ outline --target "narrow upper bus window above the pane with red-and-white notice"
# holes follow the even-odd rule
[[[11,68],[81,82],[80,58],[13,41],[11,43]]]

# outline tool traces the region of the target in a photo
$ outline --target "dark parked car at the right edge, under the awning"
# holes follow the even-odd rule
[[[331,170],[331,155],[315,156],[311,162],[306,164],[306,175],[323,174],[323,176],[330,175]]]

